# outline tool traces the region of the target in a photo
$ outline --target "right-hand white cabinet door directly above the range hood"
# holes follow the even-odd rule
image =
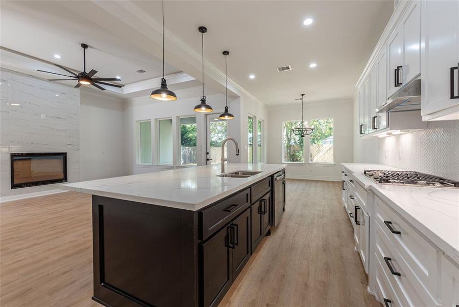
[[[401,24],[403,33],[403,70],[401,79],[407,83],[421,73],[421,4],[414,1],[404,14]]]

